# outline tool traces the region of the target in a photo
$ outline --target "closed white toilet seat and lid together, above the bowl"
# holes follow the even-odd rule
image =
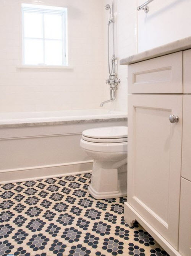
[[[82,139],[94,143],[127,142],[128,128],[126,126],[101,127],[84,130]]]

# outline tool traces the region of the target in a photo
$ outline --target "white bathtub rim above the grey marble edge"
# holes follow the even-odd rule
[[[0,125],[21,124],[21,123],[43,123],[95,120],[110,118],[125,118],[127,114],[120,111],[107,109],[81,109],[65,111],[43,111],[43,112],[4,112],[0,113]]]

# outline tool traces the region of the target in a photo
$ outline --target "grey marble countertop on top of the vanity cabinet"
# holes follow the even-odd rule
[[[129,65],[187,49],[191,49],[191,36],[121,59],[120,65]]]

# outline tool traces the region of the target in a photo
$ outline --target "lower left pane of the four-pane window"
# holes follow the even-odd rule
[[[38,65],[44,62],[43,40],[25,39],[24,40],[24,64]]]

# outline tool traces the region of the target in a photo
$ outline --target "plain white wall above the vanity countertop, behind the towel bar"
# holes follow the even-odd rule
[[[137,11],[146,0],[113,1],[120,58],[191,36],[191,0],[154,0],[147,14]]]

